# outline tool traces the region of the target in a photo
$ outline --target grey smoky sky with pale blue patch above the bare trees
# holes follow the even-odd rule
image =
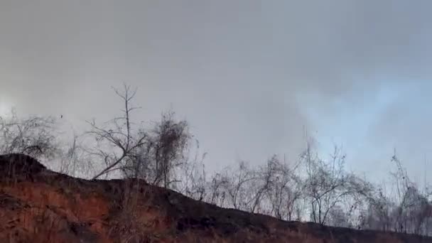
[[[0,112],[109,119],[138,87],[136,120],[171,107],[207,168],[273,153],[305,130],[381,178],[397,154],[432,168],[431,1],[0,0]],[[432,173],[432,171],[431,171]],[[427,175],[426,175],[427,176]],[[432,182],[432,180],[431,180]]]

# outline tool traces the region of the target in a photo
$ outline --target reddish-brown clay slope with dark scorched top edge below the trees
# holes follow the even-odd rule
[[[138,185],[137,185],[138,184]],[[82,180],[0,156],[0,242],[432,242],[284,222],[198,202],[140,180]]]

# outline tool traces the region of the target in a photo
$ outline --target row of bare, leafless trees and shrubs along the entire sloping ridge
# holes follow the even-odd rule
[[[396,155],[390,190],[346,171],[346,156],[337,146],[322,158],[311,140],[295,163],[275,155],[261,166],[239,161],[207,175],[205,153],[199,153],[186,121],[166,112],[145,128],[132,117],[136,90],[124,85],[114,91],[124,106],[121,114],[103,123],[88,121],[90,129],[74,134],[70,143],[58,139],[52,117],[0,117],[0,152],[59,161],[57,170],[74,176],[140,178],[196,200],[281,220],[432,235],[431,190],[410,180]]]

